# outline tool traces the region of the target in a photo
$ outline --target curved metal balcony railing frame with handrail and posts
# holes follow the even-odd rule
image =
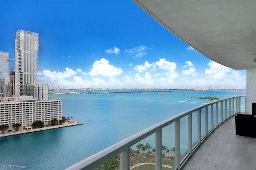
[[[230,117],[236,115],[237,113],[241,112],[241,97],[245,99],[246,105],[246,96],[236,96],[236,97],[230,97],[226,99],[221,99],[218,101],[214,101],[211,103],[208,103],[206,105],[202,105],[199,107],[195,107],[193,109],[190,109],[188,111],[184,111],[178,115],[175,115],[173,117],[170,117],[169,119],[166,119],[160,123],[157,123],[156,125],[153,125],[149,128],[146,128],[145,130],[142,130],[124,140],[121,140],[120,142],[66,168],[66,170],[93,170],[94,168],[97,168],[98,166],[104,164],[106,161],[110,160],[111,158],[114,158],[116,155],[120,154],[120,170],[129,170],[130,169],[130,147],[134,144],[140,142],[144,138],[150,136],[151,134],[156,134],[155,140],[156,140],[156,170],[162,170],[162,128],[171,125],[172,123],[175,123],[175,168],[180,169],[182,166],[184,166],[185,162],[188,160],[188,158],[191,156],[191,154],[200,146],[200,144],[207,138],[211,132],[217,128],[220,124],[222,124],[224,121],[229,119]],[[235,103],[236,100],[236,103]],[[221,112],[221,121],[218,122],[218,105],[220,103],[220,112]],[[216,126],[214,126],[214,104],[216,104]],[[224,108],[223,108],[224,104]],[[234,107],[236,105],[236,108]],[[210,121],[208,121],[208,106],[210,106]],[[231,109],[232,106],[232,109]],[[228,108],[227,108],[228,107]],[[201,109],[204,109],[205,119],[201,120]],[[223,113],[224,110],[224,113]],[[231,113],[232,110],[232,113]],[[236,110],[236,112],[234,111]],[[192,113],[197,112],[198,119],[197,119],[197,125],[198,125],[198,140],[196,143],[196,146],[194,148],[192,147]],[[183,117],[188,116],[188,151],[186,156],[182,160],[180,160],[180,119]],[[224,117],[224,119],[223,119]],[[205,124],[205,133],[203,136],[201,136],[201,122],[204,121]],[[208,130],[208,123],[211,124],[210,130]]]

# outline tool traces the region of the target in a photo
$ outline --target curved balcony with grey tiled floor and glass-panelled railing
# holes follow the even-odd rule
[[[155,140],[155,169],[162,170],[162,141],[168,134],[164,133],[166,127],[171,129],[169,133],[173,133],[169,140],[175,141],[175,163],[172,169],[253,169],[256,167],[256,139],[235,134],[234,115],[244,112],[245,105],[246,97],[237,96],[190,109],[138,132],[66,170],[92,170],[118,154],[120,170],[129,170],[130,147],[152,134]]]

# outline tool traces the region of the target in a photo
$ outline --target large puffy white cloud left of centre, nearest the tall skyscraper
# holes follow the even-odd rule
[[[107,77],[116,76],[122,74],[122,69],[110,65],[109,61],[102,58],[100,61],[95,61],[92,65],[92,69],[89,72],[90,75],[103,75]]]

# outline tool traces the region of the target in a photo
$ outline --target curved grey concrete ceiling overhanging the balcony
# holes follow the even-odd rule
[[[256,67],[256,0],[133,2],[209,59],[236,70]]]

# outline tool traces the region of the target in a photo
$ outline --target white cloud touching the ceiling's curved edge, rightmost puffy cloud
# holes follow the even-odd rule
[[[205,70],[205,73],[212,79],[222,79],[226,77],[227,73],[231,71],[230,68],[216,63],[215,61],[210,61],[208,63],[209,69]]]

